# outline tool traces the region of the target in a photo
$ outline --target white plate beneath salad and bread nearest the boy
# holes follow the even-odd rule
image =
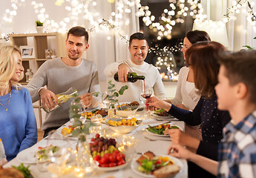
[[[175,175],[175,177],[179,177],[181,174],[182,174],[182,171],[184,169],[184,165],[183,165],[183,162],[180,161],[180,159],[177,159],[176,157],[174,156],[170,156],[170,155],[157,155],[157,156],[168,156],[169,159],[172,159],[174,161],[174,164],[176,165],[179,165],[180,166],[180,172],[178,174]],[[149,177],[149,178],[154,178],[154,175],[152,174],[145,174],[145,173],[142,173],[140,171],[137,170],[137,168],[139,167],[139,163],[136,162],[137,159],[139,159],[140,156],[138,156],[136,159],[134,159],[132,162],[131,162],[131,170],[134,171],[136,174],[139,174],[141,177]]]

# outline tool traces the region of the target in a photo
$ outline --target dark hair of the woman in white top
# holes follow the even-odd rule
[[[202,30],[190,30],[188,33],[186,33],[186,37],[191,44],[196,42],[211,41],[209,34]]]

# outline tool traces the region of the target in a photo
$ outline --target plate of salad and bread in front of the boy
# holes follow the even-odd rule
[[[151,151],[131,162],[131,169],[141,177],[174,177],[181,174],[184,165],[180,159],[169,155],[154,155]]]

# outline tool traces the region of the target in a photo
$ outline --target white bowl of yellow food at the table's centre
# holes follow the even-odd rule
[[[106,119],[105,122],[116,133],[130,133],[142,123],[142,120],[137,120],[135,117],[131,119],[111,118]]]

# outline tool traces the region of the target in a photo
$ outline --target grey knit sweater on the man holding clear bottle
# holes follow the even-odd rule
[[[100,91],[96,65],[86,59],[82,59],[82,62],[78,66],[65,65],[61,58],[45,62],[39,67],[33,79],[26,86],[30,91],[33,102],[40,99],[39,89],[45,85],[48,90],[51,90],[55,94],[63,93],[71,87],[75,88],[79,95]],[[72,99],[69,99],[68,102],[65,102],[65,104],[61,105],[55,111],[47,113],[42,129],[59,127],[65,124],[65,122],[68,122],[68,110],[71,101]],[[99,105],[99,102],[101,102],[101,98],[93,96],[91,107],[96,107]]]

